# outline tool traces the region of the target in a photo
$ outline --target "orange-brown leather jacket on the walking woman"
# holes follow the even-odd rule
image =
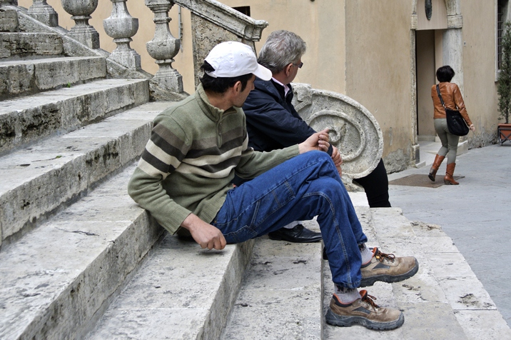
[[[457,87],[456,84],[448,82],[443,82],[439,85],[440,94],[442,94],[445,107],[447,107],[447,109],[460,111],[467,125],[472,125],[472,121],[470,121],[470,117],[467,114],[467,109],[465,109],[465,103],[463,102],[460,88]],[[431,86],[431,98],[433,99],[433,106],[435,106],[435,115],[433,118],[445,118],[445,110],[440,102],[440,98],[438,98],[436,85]]]

